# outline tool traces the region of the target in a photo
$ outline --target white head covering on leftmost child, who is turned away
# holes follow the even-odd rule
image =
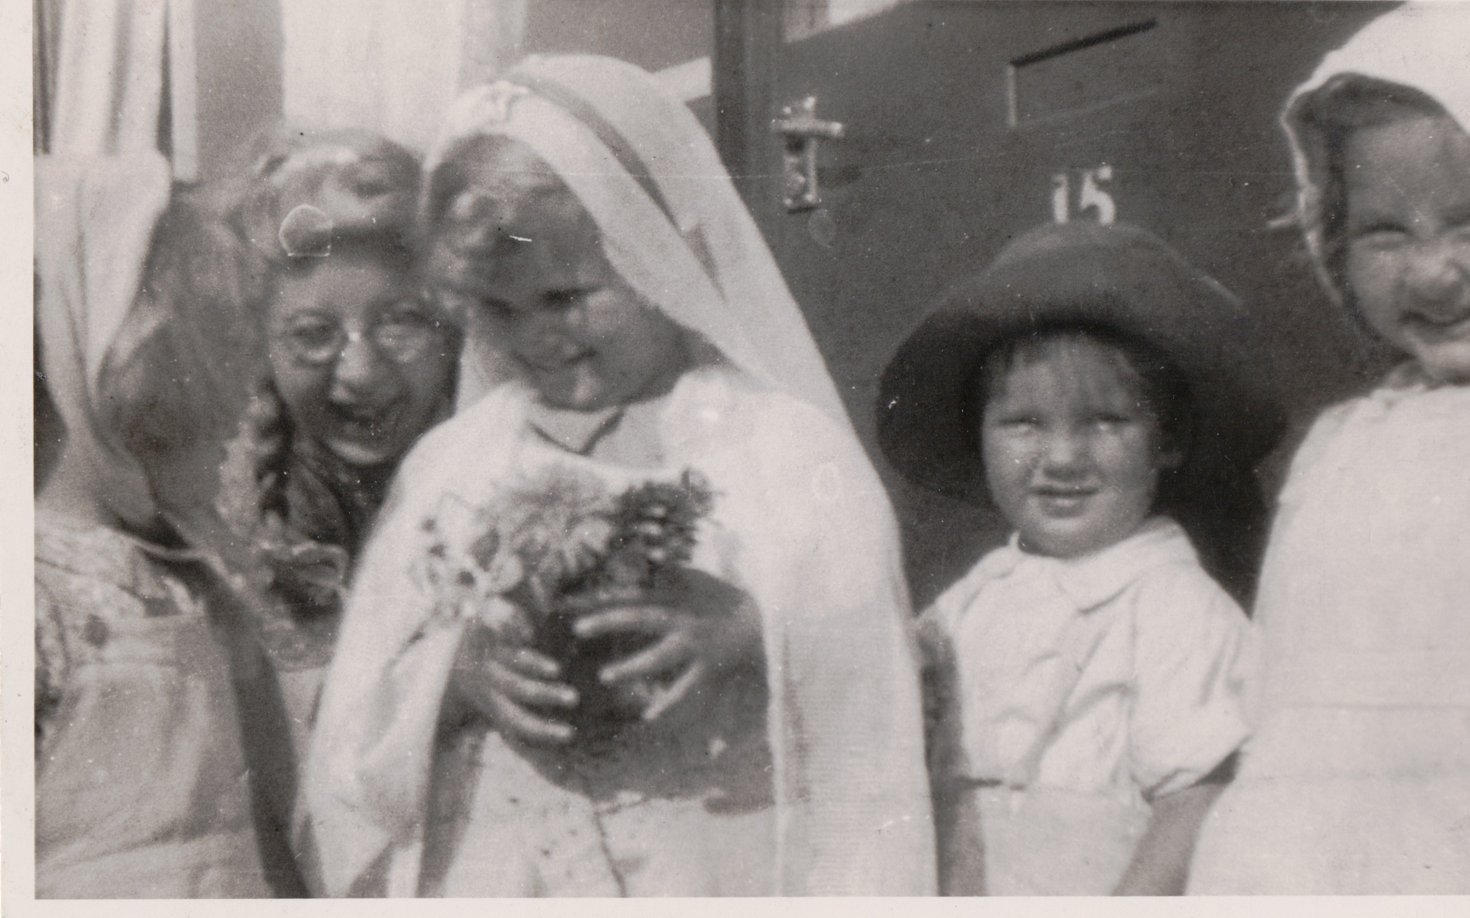
[[[156,151],[122,157],[40,157],[35,163],[35,304],[46,386],[66,423],[68,452],[91,464],[94,492],[119,517],[156,514],[138,464],[98,423],[98,376],[143,278],[153,228],[169,203],[169,163]]]

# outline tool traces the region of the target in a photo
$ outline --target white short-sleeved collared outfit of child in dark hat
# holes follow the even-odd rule
[[[1013,538],[935,601],[935,768],[975,795],[988,893],[1113,892],[1147,800],[1245,739],[1248,629],[1167,518],[1073,560]]]

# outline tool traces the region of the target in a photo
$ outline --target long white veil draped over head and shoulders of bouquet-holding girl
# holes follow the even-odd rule
[[[725,505],[744,536],[738,573],[764,624],[772,892],[932,893],[919,684],[892,511],[707,134],[645,72],[592,56],[531,57],[467,93],[426,175],[451,144],[485,134],[539,154],[592,216],[623,279],[753,380],[754,395],[709,398],[706,383],[689,383],[684,391],[701,395],[666,413],[663,435],[673,458],[710,471],[716,488],[719,473],[739,479]],[[419,889],[429,759],[459,632],[416,636],[426,601],[407,565],[444,494],[473,496],[469,482],[509,466],[523,416],[507,405],[519,386],[494,382],[484,367],[476,382],[466,364],[459,414],[400,467],[359,567],[298,833],[325,894],[360,889],[372,871],[387,875],[388,894]]]

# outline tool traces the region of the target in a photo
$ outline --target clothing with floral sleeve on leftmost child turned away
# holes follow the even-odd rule
[[[38,897],[301,893],[260,758],[269,683],[206,610],[197,567],[37,514]]]

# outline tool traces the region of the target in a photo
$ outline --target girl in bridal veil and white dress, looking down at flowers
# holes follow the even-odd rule
[[[698,122],[634,66],[532,57],[456,104],[428,176],[462,405],[347,604],[298,834],[319,893],[932,893],[891,510]],[[445,604],[423,574],[484,555],[526,482],[562,507],[691,480],[686,564],[563,601],[578,640],[644,640],[597,670],[632,711],[606,730],[525,593],[466,563],[478,598]]]

